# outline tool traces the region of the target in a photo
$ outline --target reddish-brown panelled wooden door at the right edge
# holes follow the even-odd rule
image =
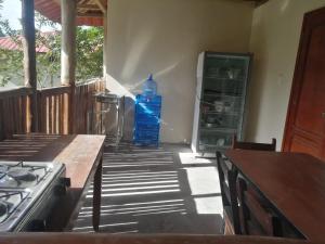
[[[307,13],[300,38],[283,151],[325,159],[325,8]]]

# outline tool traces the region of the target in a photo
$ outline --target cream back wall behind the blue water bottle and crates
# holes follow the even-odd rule
[[[161,140],[191,142],[198,53],[247,52],[252,11],[231,0],[109,0],[107,88],[133,97],[153,73],[164,98]]]

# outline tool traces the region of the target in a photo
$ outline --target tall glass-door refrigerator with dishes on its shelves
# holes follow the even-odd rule
[[[198,57],[192,150],[203,155],[231,147],[244,134],[251,54],[203,52]]]

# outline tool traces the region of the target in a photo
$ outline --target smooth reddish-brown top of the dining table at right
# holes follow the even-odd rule
[[[225,156],[308,240],[325,243],[324,162],[249,150],[229,150]]]

